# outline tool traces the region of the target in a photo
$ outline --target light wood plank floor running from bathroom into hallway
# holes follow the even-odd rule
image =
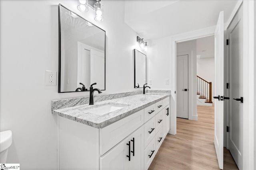
[[[214,105],[197,106],[198,121],[177,118],[177,134],[166,136],[149,170],[219,169],[214,149]],[[224,148],[224,170],[238,170]]]

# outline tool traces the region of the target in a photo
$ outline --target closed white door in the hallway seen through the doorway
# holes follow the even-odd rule
[[[177,117],[188,119],[188,55],[177,56]]]

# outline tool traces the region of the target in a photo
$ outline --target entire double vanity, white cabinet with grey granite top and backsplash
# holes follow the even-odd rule
[[[147,91],[52,101],[58,168],[148,169],[170,129],[170,91]]]

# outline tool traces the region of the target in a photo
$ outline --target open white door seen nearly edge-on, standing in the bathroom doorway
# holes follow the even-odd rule
[[[215,49],[215,97],[224,96],[224,12],[220,12],[214,33]],[[223,169],[223,128],[224,101],[220,98],[214,102],[214,146],[219,168]]]

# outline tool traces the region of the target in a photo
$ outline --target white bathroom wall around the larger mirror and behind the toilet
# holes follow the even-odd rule
[[[57,168],[57,122],[51,101],[88,96],[45,86],[45,70],[58,71],[58,4],[106,31],[106,91],[134,89],[132,52],[137,34],[124,23],[124,2],[102,1],[104,21],[78,12],[74,0],[0,1],[0,130],[12,130],[8,163],[22,169]],[[58,83],[57,83],[58,84]],[[96,94],[97,95],[97,94]]]

